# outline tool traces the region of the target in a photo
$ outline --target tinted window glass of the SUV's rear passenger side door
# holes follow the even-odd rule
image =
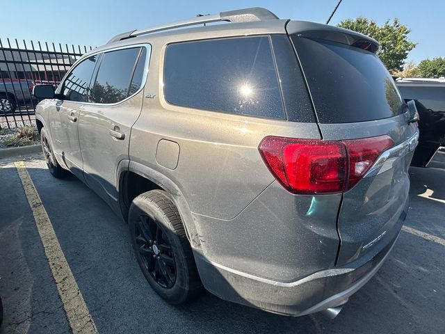
[[[128,96],[139,51],[140,48],[136,47],[104,53],[92,88],[92,102],[116,103]]]

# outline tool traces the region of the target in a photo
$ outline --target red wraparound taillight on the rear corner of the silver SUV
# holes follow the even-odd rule
[[[311,195],[351,189],[393,145],[389,136],[345,141],[268,136],[258,149],[284,188]]]

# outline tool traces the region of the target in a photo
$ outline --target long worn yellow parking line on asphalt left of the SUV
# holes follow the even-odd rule
[[[56,281],[58,294],[60,299],[62,299],[63,308],[65,309],[72,333],[98,333],[95,322],[83,300],[81,291],[77,286],[76,280],[74,280],[70,266],[65,259],[65,255],[63,255],[62,248],[60,248],[47,211],[43,207],[42,200],[40,200],[28,170],[26,170],[24,161],[15,162],[15,168],[17,168],[26,198],[31,206],[35,225],[37,225],[40,239],[42,240],[44,253],[47,256],[51,273]]]

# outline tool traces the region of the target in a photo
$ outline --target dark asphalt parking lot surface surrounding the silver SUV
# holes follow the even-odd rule
[[[149,288],[127,225],[105,202],[74,176],[54,179],[42,157],[25,166],[99,333],[445,333],[442,160],[410,170],[405,225],[414,230],[401,232],[387,262],[334,320],[282,317],[209,293],[168,305]],[[71,333],[14,162],[0,161],[0,333]]]

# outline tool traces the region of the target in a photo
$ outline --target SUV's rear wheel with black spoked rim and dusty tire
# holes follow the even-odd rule
[[[159,296],[177,305],[200,291],[181,216],[165,191],[147,191],[133,200],[129,228],[139,267]]]

